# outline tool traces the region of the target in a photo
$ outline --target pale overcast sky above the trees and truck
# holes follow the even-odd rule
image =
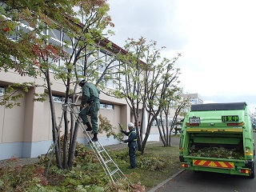
[[[108,0],[115,35],[166,46],[174,58],[185,93],[201,94],[204,103],[247,102],[256,107],[255,0]]]

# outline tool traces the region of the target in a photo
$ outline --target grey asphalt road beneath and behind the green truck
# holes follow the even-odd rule
[[[255,133],[254,133],[255,137]],[[256,137],[255,137],[256,138]],[[256,178],[183,170],[160,184],[155,192],[243,192],[256,191]]]

